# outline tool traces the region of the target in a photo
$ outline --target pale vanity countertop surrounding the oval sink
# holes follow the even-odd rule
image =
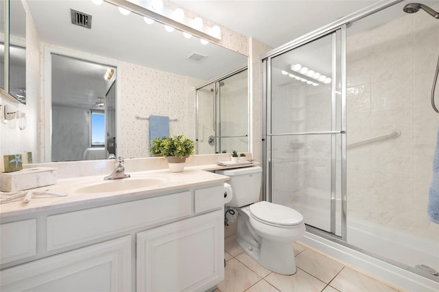
[[[80,206],[92,202],[106,204],[111,200],[119,198],[135,198],[139,196],[145,198],[145,195],[147,197],[148,194],[151,195],[151,197],[154,197],[154,194],[156,193],[169,193],[169,191],[177,191],[181,188],[191,188],[193,186],[202,186],[203,184],[225,182],[229,179],[227,176],[206,171],[224,168],[225,167],[219,167],[218,165],[185,167],[185,171],[181,173],[171,173],[168,169],[136,172],[126,171],[126,173],[131,175],[131,178],[124,178],[122,180],[155,178],[163,180],[163,182],[146,188],[136,188],[128,191],[115,191],[107,193],[75,193],[75,190],[78,190],[78,188],[82,188],[88,184],[104,182],[104,177],[102,175],[62,179],[58,180],[58,182],[54,185],[34,188],[32,191],[62,193],[67,194],[67,197],[42,196],[34,197],[30,200],[30,202],[27,203],[23,202],[23,199],[19,199],[14,202],[1,204],[0,218],[29,214],[30,212],[38,212],[43,210],[53,210],[56,208]]]

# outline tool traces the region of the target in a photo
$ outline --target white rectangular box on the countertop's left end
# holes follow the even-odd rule
[[[56,169],[34,167],[11,173],[0,173],[0,191],[15,192],[56,184]]]

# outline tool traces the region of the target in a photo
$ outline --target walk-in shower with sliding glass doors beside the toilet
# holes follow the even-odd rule
[[[405,13],[407,3],[263,56],[264,195],[313,234],[439,282],[439,225],[427,217],[439,20]]]

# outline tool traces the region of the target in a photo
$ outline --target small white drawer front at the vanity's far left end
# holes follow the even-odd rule
[[[36,219],[0,225],[0,263],[36,254]]]

